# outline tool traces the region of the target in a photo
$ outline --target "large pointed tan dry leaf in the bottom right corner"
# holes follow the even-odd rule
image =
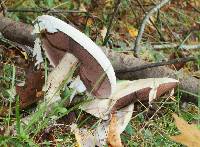
[[[185,120],[173,114],[177,128],[181,131],[180,135],[171,136],[170,138],[178,143],[188,147],[200,146],[200,130],[194,125],[189,125]]]

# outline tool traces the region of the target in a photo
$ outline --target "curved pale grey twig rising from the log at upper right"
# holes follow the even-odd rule
[[[145,29],[145,26],[149,20],[149,18],[151,17],[151,15],[154,13],[154,12],[157,12],[161,7],[163,7],[165,4],[167,4],[169,1],[171,0],[163,0],[161,1],[160,3],[158,3],[154,8],[152,8],[144,17],[143,21],[142,21],[142,24],[141,24],[141,27],[140,27],[140,30],[139,30],[139,33],[138,33],[138,36],[136,37],[136,41],[135,41],[135,46],[134,46],[134,51],[135,51],[135,55],[138,56],[138,52],[139,52],[139,44],[140,44],[140,41],[142,40],[142,35],[143,35],[143,32],[144,32],[144,29]]]

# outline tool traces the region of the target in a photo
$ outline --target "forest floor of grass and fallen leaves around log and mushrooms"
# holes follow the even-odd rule
[[[159,2],[157,0],[122,0],[112,20],[114,0],[3,1],[7,9],[6,17],[13,20],[32,24],[39,15],[55,15],[79,28],[96,44],[130,55],[133,55],[134,43],[144,15]],[[51,13],[47,10],[77,11]],[[109,36],[106,35],[108,31]],[[0,146],[7,144],[76,145],[75,136],[69,128],[58,124],[67,124],[69,118],[75,119],[79,127],[93,123],[93,116],[78,109],[80,104],[72,108],[57,106],[48,118],[42,117],[42,111],[45,111],[42,109],[34,115],[34,124],[30,123],[25,128],[22,124],[20,125],[20,119],[36,109],[36,105],[33,105],[21,110],[19,97],[15,96],[16,83],[24,81],[24,69],[31,63],[31,60],[29,61],[31,57],[3,36],[0,37],[0,134],[2,134]],[[166,44],[168,47],[164,47]],[[174,44],[175,47],[173,47]],[[183,45],[187,45],[188,48],[182,48]],[[197,58],[195,62],[182,62],[167,66],[177,73],[183,71],[187,75],[200,79],[200,47],[193,49],[194,45],[200,45],[200,2],[198,0],[171,1],[170,4],[166,4],[153,14],[147,22],[141,40],[142,47],[139,57],[150,63],[195,57]],[[46,66],[50,67],[48,63]],[[62,95],[66,97],[70,94],[68,92],[63,91]],[[177,88],[174,96],[163,96],[153,101],[151,105],[148,102],[137,102],[132,119],[121,134],[123,144],[145,147],[182,146],[170,139],[170,136],[180,134],[172,115],[175,113],[189,124],[197,125],[198,130],[200,128],[200,95],[196,98],[197,103],[189,100],[183,101],[185,98]],[[53,118],[54,116],[56,118]],[[57,123],[51,122],[51,127],[49,127],[50,120],[58,121]],[[13,122],[17,122],[16,128],[12,128]],[[45,132],[47,128],[53,131]]]

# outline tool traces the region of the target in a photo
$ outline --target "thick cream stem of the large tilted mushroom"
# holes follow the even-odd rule
[[[47,105],[61,99],[59,94],[60,86],[62,86],[64,80],[69,80],[71,78],[78,62],[78,59],[74,55],[66,53],[60,63],[49,74],[45,86],[47,92],[45,95],[45,102],[47,102]]]

